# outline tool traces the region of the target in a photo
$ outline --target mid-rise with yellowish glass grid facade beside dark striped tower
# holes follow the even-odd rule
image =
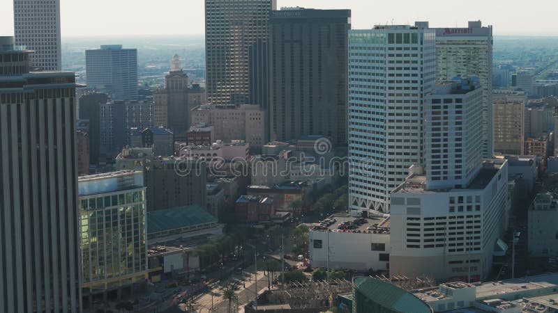
[[[82,288],[89,295],[147,278],[146,200],[143,173],[82,176],[80,246]]]

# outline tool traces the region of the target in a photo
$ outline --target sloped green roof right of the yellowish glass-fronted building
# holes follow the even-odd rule
[[[165,232],[193,225],[217,223],[217,218],[199,207],[175,207],[172,209],[148,211],[146,214],[147,233]]]

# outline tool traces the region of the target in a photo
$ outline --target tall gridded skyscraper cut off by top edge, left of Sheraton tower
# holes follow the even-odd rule
[[[249,49],[267,40],[276,0],[206,0],[206,88],[213,104],[246,104]]]

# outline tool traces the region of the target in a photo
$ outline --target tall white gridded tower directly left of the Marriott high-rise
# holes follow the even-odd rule
[[[390,193],[423,158],[423,104],[436,79],[435,31],[349,31],[349,205],[389,212]]]

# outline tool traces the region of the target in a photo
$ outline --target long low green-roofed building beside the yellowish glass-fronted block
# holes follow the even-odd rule
[[[160,239],[174,235],[198,234],[218,227],[217,218],[199,205],[148,211],[147,239]]]

